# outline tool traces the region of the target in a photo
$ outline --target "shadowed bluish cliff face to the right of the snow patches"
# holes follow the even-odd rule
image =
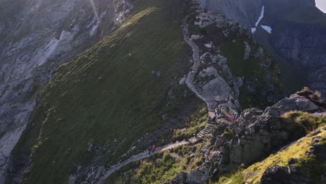
[[[325,98],[326,14],[316,8],[314,1],[296,3],[293,7],[284,1],[266,1],[262,24],[269,25],[272,33],[260,28],[257,38],[267,37],[275,52],[295,66],[304,82]]]

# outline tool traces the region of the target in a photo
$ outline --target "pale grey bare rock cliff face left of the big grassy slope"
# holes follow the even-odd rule
[[[0,183],[38,91],[57,66],[111,32],[128,1],[8,1],[0,4]]]

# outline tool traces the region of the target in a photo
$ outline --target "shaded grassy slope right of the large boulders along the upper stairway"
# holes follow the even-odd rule
[[[249,59],[244,60],[244,40],[238,40],[235,43],[228,42],[222,45],[222,55],[226,56],[228,67],[231,69],[233,75],[244,77],[245,81],[250,81],[256,86],[256,93],[249,93],[247,89],[240,87],[240,105],[246,109],[249,107],[267,107],[270,105],[266,99],[262,99],[263,93],[267,94],[273,91],[269,91],[265,82],[265,75],[268,73],[273,80],[274,89],[279,93],[282,88],[281,80],[279,79],[279,68],[277,67],[274,59],[264,52],[264,59],[272,59],[270,67],[261,66],[260,61],[254,56],[256,54],[259,45],[249,42],[251,47],[251,54]],[[273,95],[270,93],[270,95]],[[281,97],[281,94],[279,95]],[[248,99],[251,99],[249,102]]]

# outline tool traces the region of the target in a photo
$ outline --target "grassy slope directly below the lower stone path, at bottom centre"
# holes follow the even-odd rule
[[[206,140],[208,141],[208,140]],[[204,144],[188,144],[164,151],[139,162],[127,164],[105,181],[111,183],[167,183],[180,174],[203,164]]]

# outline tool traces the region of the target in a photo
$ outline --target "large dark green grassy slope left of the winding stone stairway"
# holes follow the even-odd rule
[[[61,66],[42,91],[13,151],[19,160],[33,147],[24,183],[65,183],[74,165],[89,159],[86,149],[91,140],[96,145],[110,142],[104,164],[117,162],[171,110],[166,93],[180,70],[173,63],[185,52],[179,27],[182,3],[134,3],[133,13],[120,28]],[[162,77],[155,77],[153,70],[160,70]]]

